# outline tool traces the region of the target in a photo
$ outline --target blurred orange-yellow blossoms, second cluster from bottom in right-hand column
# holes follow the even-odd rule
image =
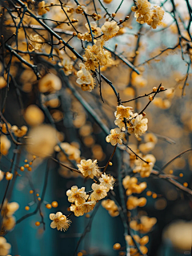
[[[156,217],[142,216],[140,217],[140,223],[138,223],[138,221],[130,221],[130,228],[145,234],[150,232],[156,222]]]

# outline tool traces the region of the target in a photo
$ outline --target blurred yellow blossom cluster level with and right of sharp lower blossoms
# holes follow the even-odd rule
[[[136,177],[130,177],[129,175],[122,180],[122,185],[126,189],[127,196],[130,196],[132,193],[142,193],[142,191],[146,189],[146,182],[137,183],[138,179]]]

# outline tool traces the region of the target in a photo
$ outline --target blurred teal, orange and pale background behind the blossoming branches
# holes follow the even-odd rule
[[[188,35],[183,26],[190,19],[186,8],[187,1],[179,0],[174,2],[180,15],[178,25],[182,30],[182,35],[187,38]],[[98,6],[98,11],[101,10],[101,13],[105,14],[100,3],[98,1],[95,1],[95,3]],[[102,3],[112,13],[118,8],[121,1],[113,0],[110,4],[107,1]],[[161,6],[162,3],[164,2],[151,1],[151,4],[154,5]],[[74,6],[72,1],[67,2],[67,4]],[[120,19],[130,14],[132,5],[133,2],[130,0],[122,2],[115,18]],[[86,8],[88,12],[91,12],[94,8],[93,3]],[[161,169],[174,156],[192,148],[191,66],[189,71],[185,62],[188,55],[184,53],[185,59],[182,60],[181,47],[175,47],[178,43],[178,30],[174,18],[170,14],[172,10],[171,1],[165,1],[164,8],[166,13],[162,26],[159,26],[156,30],[147,25],[141,26],[135,21],[134,13],[132,13],[130,14],[130,19],[123,23],[121,33],[111,39],[106,46],[134,63],[141,75],[137,75],[125,63],[122,63],[118,56],[113,54],[113,64],[109,65],[109,67],[102,67],[102,74],[113,82],[122,101],[150,93],[152,88],[158,87],[160,83],[166,89],[169,89],[169,91],[158,94],[149,108],[146,109],[146,117],[149,120],[146,135],[154,134],[157,139],[155,146],[149,147],[148,145],[149,148],[147,148],[146,137],[144,136],[142,136],[141,141],[136,140],[134,136],[130,136],[131,148],[134,150],[139,148],[143,154],[150,153],[154,155],[156,158],[154,170]],[[62,10],[55,6],[53,11],[47,13],[46,17],[59,20],[62,14]],[[27,22],[31,22],[34,26],[37,25],[36,22],[30,21],[30,18],[29,20],[28,18],[26,18]],[[74,13],[72,18],[79,18],[79,16]],[[9,20],[8,14],[7,19]],[[102,18],[99,22],[103,24],[105,18]],[[49,26],[55,25],[49,22],[47,24]],[[13,28],[9,25],[11,25],[11,22],[6,21],[4,26],[6,30],[6,34],[4,31],[5,36],[13,33]],[[78,27],[82,31],[86,31],[84,25],[85,20],[82,18],[82,21],[80,19],[78,23]],[[66,24],[58,25],[56,28],[70,30],[70,26]],[[33,32],[29,28],[27,31],[29,31],[29,35]],[[49,39],[46,31],[43,31],[43,33],[46,39]],[[25,44],[22,44],[25,39],[24,35],[23,30],[18,34],[19,47],[21,49],[23,47],[21,51],[24,51],[24,47],[26,47]],[[68,35],[62,35],[62,37],[66,41],[69,39]],[[12,45],[14,46],[14,42]],[[71,45],[82,55],[81,44],[78,39],[74,39]],[[161,52],[168,47],[175,47],[175,49]],[[183,49],[183,51],[186,51],[185,46],[183,46]],[[50,46],[46,44],[42,52],[48,53],[49,51]],[[67,53],[70,55],[69,52]],[[160,53],[161,55],[159,55]],[[56,50],[54,54],[58,54]],[[65,52],[59,55],[62,55],[63,59],[68,58]],[[156,55],[159,56],[153,59]],[[117,102],[111,87],[103,81],[103,103],[98,86],[90,93],[82,91],[78,84],[75,83],[77,67],[74,66],[75,70],[69,76],[63,76],[54,66],[57,63],[55,58],[51,60],[40,54],[32,55],[32,59],[28,55],[23,55],[23,58],[37,64],[42,76],[47,72],[57,75],[62,81],[62,89],[52,93],[40,93],[38,90],[39,82],[36,75],[34,75],[34,71],[13,56],[10,66],[9,91],[7,91],[7,87],[0,90],[1,111],[3,110],[3,116],[7,122],[18,126],[18,128],[26,125],[28,127],[26,136],[35,135],[42,138],[42,140],[37,140],[38,151],[44,152],[48,148],[47,155],[53,153],[55,159],[66,165],[75,166],[83,158],[98,159],[99,166],[106,165],[113,152],[113,147],[106,143],[106,133],[96,124],[94,118],[83,108],[78,99],[85,100],[100,117],[102,123],[106,124],[109,129],[115,128],[114,112]],[[7,54],[5,62],[8,63],[9,59],[10,55]],[[149,61],[149,59],[151,60]],[[1,73],[3,72],[3,68],[1,68]],[[80,98],[71,92],[67,81],[73,85]],[[186,87],[183,90],[184,84],[186,84]],[[140,112],[147,102],[148,97],[145,97],[125,105],[133,107],[134,112]],[[31,105],[38,107],[37,112],[32,109],[32,112],[36,113],[35,115],[30,112],[29,106]],[[3,109],[2,106],[4,107]],[[36,120],[39,120],[37,124],[35,124]],[[43,127],[42,123],[48,126]],[[49,125],[52,126],[53,130],[49,129]],[[65,145],[66,148],[64,148],[66,152],[68,150],[67,157],[58,148],[54,148],[57,143],[56,136],[57,140],[67,143]],[[42,158],[37,157],[33,161],[32,171],[21,172],[20,167],[25,165],[25,160],[27,159],[28,162],[33,160],[33,156],[30,153],[31,148],[29,145],[17,147],[13,142],[9,144],[7,139],[10,140],[10,137],[1,135],[1,147],[5,144],[8,149],[2,152],[0,156],[0,169],[3,172],[9,171],[16,152],[14,170],[17,170],[21,176],[10,182],[11,189],[8,191],[10,201],[17,201],[19,204],[19,209],[14,214],[16,220],[20,220],[22,216],[28,213],[33,213],[38,205],[38,197],[43,195],[41,212],[43,221],[45,221],[45,230],[43,230],[42,223],[40,226],[37,225],[37,221],[42,221],[42,216],[38,210],[37,213],[26,217],[14,227],[14,230],[6,234],[7,241],[12,245],[11,255],[72,256],[76,249],[75,255],[78,256],[126,255],[126,242],[121,218],[119,215],[116,217],[110,216],[110,213],[100,203],[95,206],[92,212],[82,217],[74,217],[72,215],[70,217],[72,224],[65,233],[50,229],[50,213],[58,211],[66,215],[70,213],[70,202],[67,200],[66,190],[73,185],[78,185],[78,187],[85,186],[86,191],[90,191],[91,181],[83,179],[77,173],[72,173],[70,170],[58,165],[50,157],[44,156]],[[54,143],[54,141],[56,142]],[[51,147],[54,148],[53,152],[49,152]],[[117,195],[117,200],[120,201],[116,155],[114,155],[112,162],[113,165],[108,167],[107,172],[117,179],[117,183],[114,185],[114,193]],[[130,165],[128,154],[127,163]],[[192,189],[191,170],[192,153],[186,152],[168,165],[163,172],[173,174],[179,183]],[[132,172],[130,167],[128,171]],[[122,171],[122,175],[124,174]],[[144,179],[138,177],[138,180],[147,182],[147,189],[141,194],[142,197],[146,197],[147,203],[144,207],[138,207],[138,209],[132,211],[132,214],[135,216],[147,214],[149,217],[157,218],[157,223],[147,234],[150,238],[150,242],[147,244],[147,255],[182,256],[190,254],[190,245],[192,243],[191,196],[175,188],[174,185],[171,185],[166,180],[153,176]],[[11,187],[12,182],[14,184],[13,188]],[[1,201],[6,185],[7,181],[3,179],[0,185]],[[29,206],[30,209],[26,210],[26,206]],[[134,234],[138,234],[137,231],[134,231]],[[114,250],[115,243],[120,243],[121,248],[119,250]]]

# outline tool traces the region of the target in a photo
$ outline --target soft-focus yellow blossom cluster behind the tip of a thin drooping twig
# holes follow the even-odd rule
[[[153,170],[154,163],[156,161],[155,157],[151,154],[143,156],[144,161],[137,159],[134,161],[135,167],[133,172],[140,173],[141,177],[150,177],[150,173]]]

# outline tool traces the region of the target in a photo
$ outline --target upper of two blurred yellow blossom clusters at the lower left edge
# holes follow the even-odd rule
[[[13,214],[18,210],[18,207],[19,205],[17,202],[4,202],[2,205],[2,230],[13,230],[15,226],[15,217]]]

